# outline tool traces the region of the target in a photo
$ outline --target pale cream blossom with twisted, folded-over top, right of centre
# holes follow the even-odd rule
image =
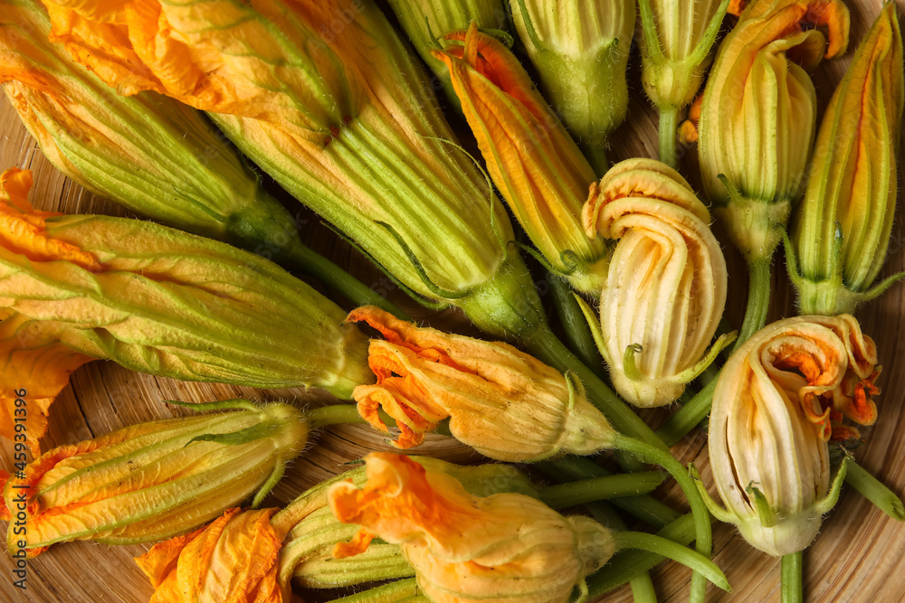
[[[583,217],[588,236],[618,240],[600,322],[586,312],[615,390],[636,406],[669,404],[734,339],[707,353],[727,290],[710,212],[672,167],[629,159],[591,186]]]

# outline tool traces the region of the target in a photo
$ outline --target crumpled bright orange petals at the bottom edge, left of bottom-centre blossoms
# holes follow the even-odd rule
[[[270,518],[277,511],[229,509],[137,557],[155,589],[150,603],[288,603],[276,582],[283,534]]]

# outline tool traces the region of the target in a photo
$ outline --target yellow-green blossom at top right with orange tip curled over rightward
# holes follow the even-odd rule
[[[816,118],[807,71],[845,52],[848,31],[842,0],[758,0],[719,45],[700,109],[700,173],[749,263],[770,258],[803,188]]]

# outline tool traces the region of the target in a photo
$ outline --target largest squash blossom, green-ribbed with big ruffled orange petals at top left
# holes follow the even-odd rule
[[[493,334],[545,324],[505,209],[373,3],[45,5],[52,40],[102,80],[208,111],[415,296]]]

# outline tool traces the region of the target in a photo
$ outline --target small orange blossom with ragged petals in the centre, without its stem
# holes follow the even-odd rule
[[[349,320],[385,337],[368,348],[376,384],[357,387],[352,397],[376,429],[387,430],[381,407],[395,419],[399,448],[417,446],[447,418],[455,438],[497,460],[586,455],[613,443],[614,430],[580,382],[510,344],[419,328],[374,306],[357,308]]]

